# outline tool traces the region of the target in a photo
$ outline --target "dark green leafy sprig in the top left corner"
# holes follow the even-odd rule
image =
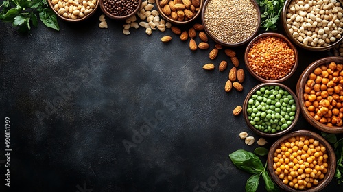
[[[38,16],[45,26],[60,30],[56,14],[47,0],[6,0],[0,5],[0,21],[12,23],[19,32],[27,32],[31,25],[38,26]]]

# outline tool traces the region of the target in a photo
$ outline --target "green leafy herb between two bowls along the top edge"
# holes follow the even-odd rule
[[[285,0],[257,0],[261,10],[261,27],[276,30]]]

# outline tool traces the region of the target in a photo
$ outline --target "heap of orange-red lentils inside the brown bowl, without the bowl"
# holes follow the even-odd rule
[[[248,63],[259,77],[279,80],[285,77],[295,64],[294,50],[281,38],[259,38],[249,49]]]

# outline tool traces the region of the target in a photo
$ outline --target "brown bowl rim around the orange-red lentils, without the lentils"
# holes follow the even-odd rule
[[[264,37],[268,37],[268,36],[273,36],[276,38],[280,38],[281,40],[285,41],[285,43],[287,43],[288,47],[293,49],[294,51],[294,66],[292,67],[291,71],[289,71],[289,73],[287,75],[285,75],[284,77],[281,77],[279,79],[276,80],[267,80],[264,77],[260,77],[259,75],[257,75],[257,73],[255,73],[255,71],[252,70],[252,68],[250,67],[249,61],[248,61],[248,54],[250,52],[250,48],[252,47],[252,45],[259,40],[259,38],[264,38]],[[254,39],[252,39],[250,41],[250,43],[248,44],[248,46],[246,47],[246,51],[244,53],[244,62],[246,64],[246,69],[248,69],[249,73],[255,77],[255,79],[259,80],[260,82],[283,82],[285,80],[287,80],[289,77],[291,77],[294,72],[296,71],[296,68],[298,67],[298,60],[299,60],[299,56],[298,56],[298,51],[296,50],[296,47],[294,47],[294,45],[282,34],[277,34],[277,33],[273,33],[273,32],[267,32],[267,33],[263,33],[263,34],[259,34],[258,36],[256,36]]]

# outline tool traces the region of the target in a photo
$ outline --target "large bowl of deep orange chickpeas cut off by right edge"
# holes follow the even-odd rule
[[[309,64],[296,85],[300,109],[314,128],[343,133],[343,57]]]

